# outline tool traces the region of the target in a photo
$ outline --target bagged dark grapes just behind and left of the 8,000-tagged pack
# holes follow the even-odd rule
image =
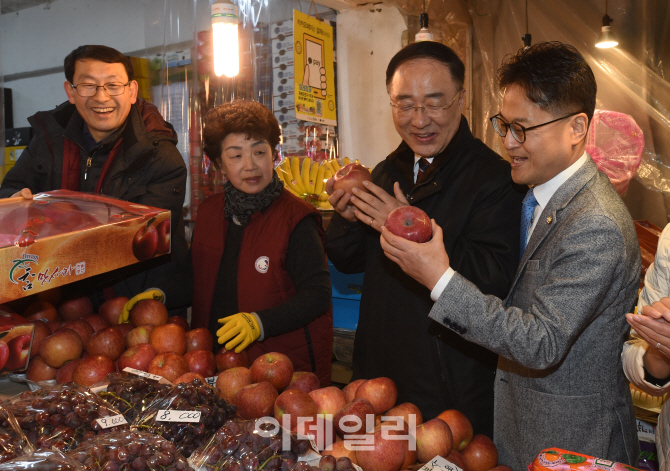
[[[110,381],[107,391],[98,394],[116,407],[128,423],[132,423],[154,400],[165,397],[173,387],[125,372],[110,373],[107,379]]]

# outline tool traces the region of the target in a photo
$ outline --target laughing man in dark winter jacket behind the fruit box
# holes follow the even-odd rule
[[[68,102],[28,118],[34,137],[7,172],[0,198],[32,198],[62,188],[169,209],[172,263],[181,262],[187,249],[186,165],[172,125],[154,105],[137,98],[132,63],[119,51],[80,46],[64,67]],[[116,294],[130,297],[151,287],[152,278],[170,266],[156,267],[160,262],[165,260],[143,262],[106,280],[122,279]]]

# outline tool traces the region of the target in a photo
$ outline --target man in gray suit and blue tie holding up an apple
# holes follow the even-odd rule
[[[435,221],[425,244],[383,228],[382,248],[432,290],[433,320],[498,353],[493,438],[501,463],[520,471],[559,447],[634,465],[620,353],[640,252],[626,207],[584,151],[595,77],[574,47],[552,42],[507,59],[498,82],[505,95],[491,121],[512,179],[531,187],[507,297],[484,295],[451,269]]]

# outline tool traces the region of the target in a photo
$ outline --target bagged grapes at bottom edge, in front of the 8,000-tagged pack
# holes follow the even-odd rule
[[[87,471],[193,471],[174,443],[144,432],[105,435],[69,456]]]

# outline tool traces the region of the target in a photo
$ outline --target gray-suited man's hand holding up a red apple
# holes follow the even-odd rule
[[[392,234],[382,227],[380,242],[384,255],[397,263],[402,271],[433,290],[442,275],[449,268],[449,256],[444,248],[442,229],[431,219],[433,238],[419,244]]]

